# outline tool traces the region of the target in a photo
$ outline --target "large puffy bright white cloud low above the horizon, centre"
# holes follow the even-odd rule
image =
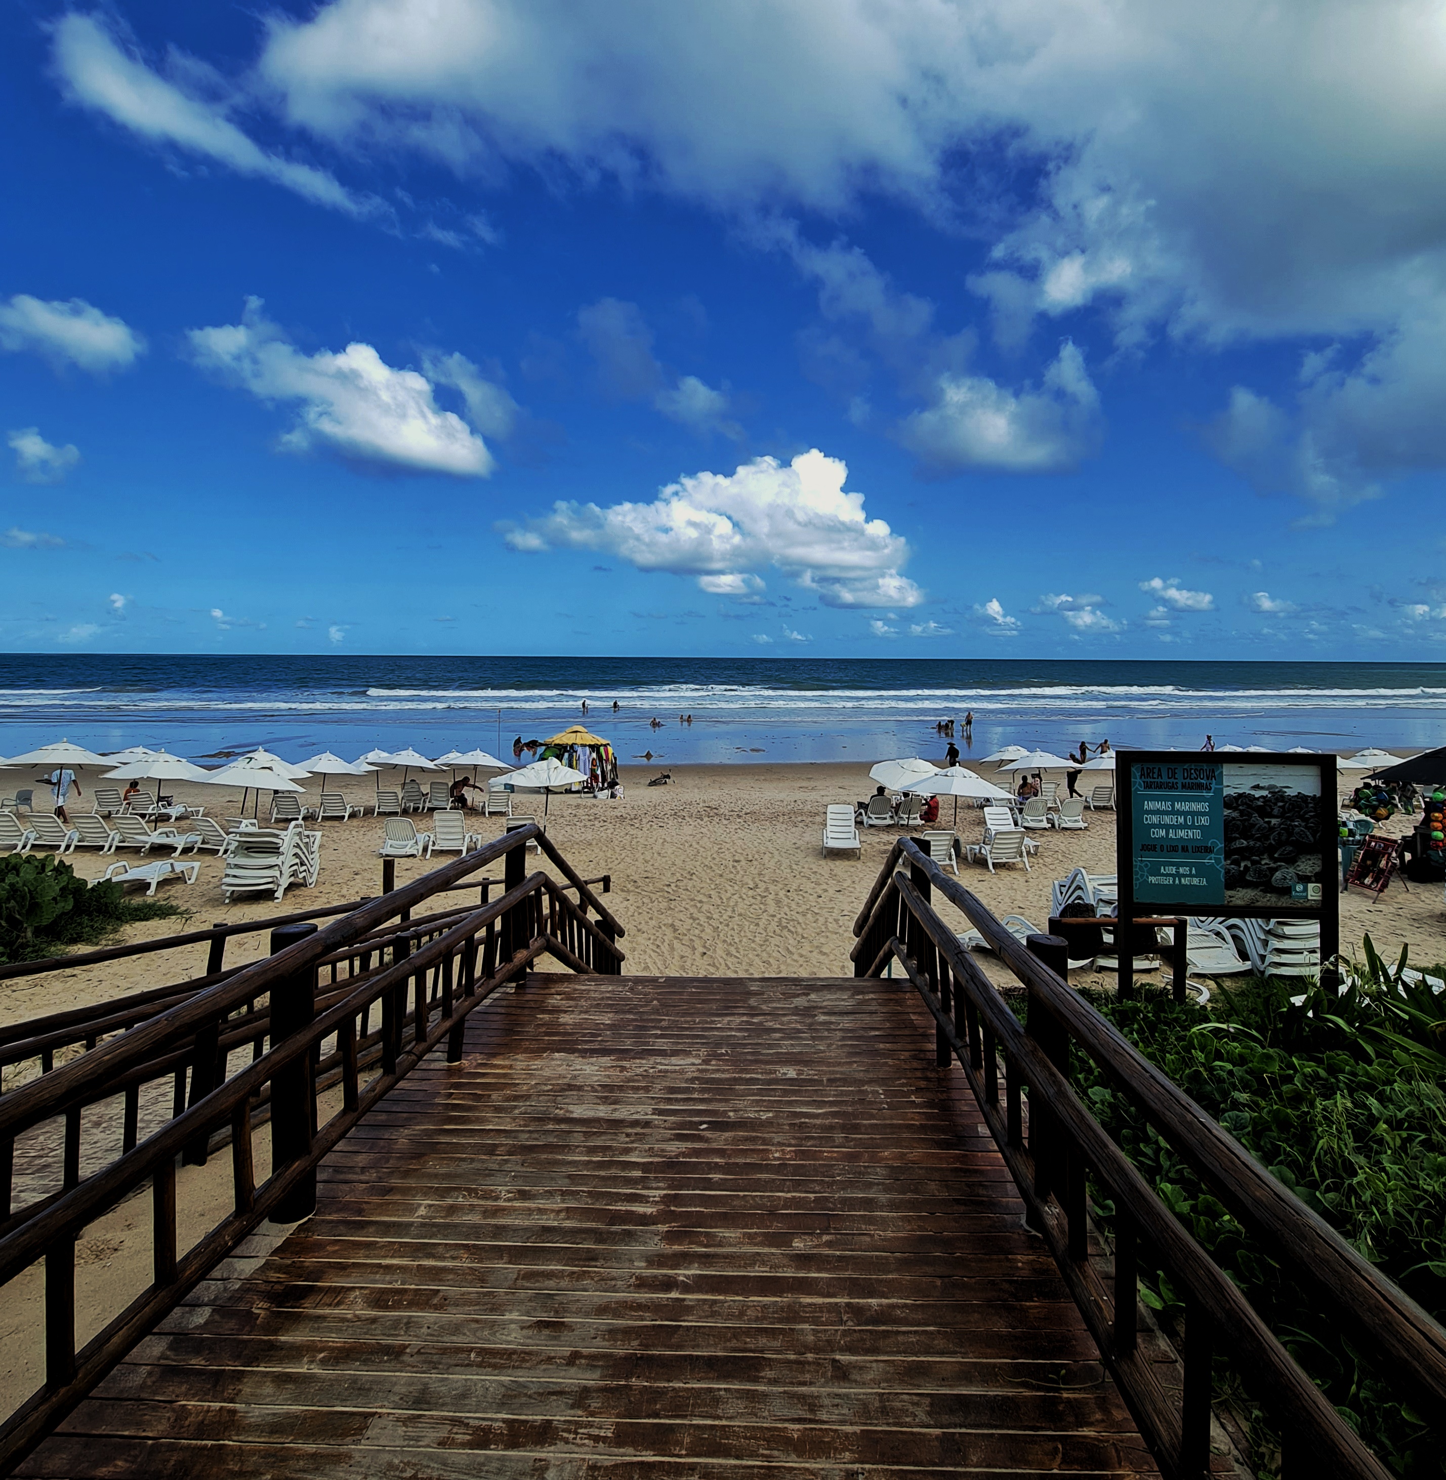
[[[814,450],[783,466],[758,457],[734,474],[699,472],[653,503],[558,502],[524,525],[503,525],[518,551],[588,549],[639,570],[694,576],[715,595],[761,589],[774,567],[827,607],[915,607],[924,592],[900,574],[907,543],[845,493],[848,468]]]

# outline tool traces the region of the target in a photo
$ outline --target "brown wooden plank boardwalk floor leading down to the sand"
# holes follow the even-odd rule
[[[912,989],[534,980],[18,1473],[1154,1473]]]

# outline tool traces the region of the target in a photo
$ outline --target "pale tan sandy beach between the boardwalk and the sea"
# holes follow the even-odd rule
[[[941,758],[940,758],[941,759]],[[667,786],[647,786],[659,768],[625,767],[620,801],[554,796],[549,836],[585,878],[611,875],[608,906],[628,931],[628,969],[702,975],[832,975],[848,974],[853,922],[898,829],[861,829],[863,858],[824,857],[820,848],[823,810],[829,802],[855,802],[873,790],[864,764],[694,765],[669,768]],[[987,774],[987,768],[986,768]],[[343,795],[364,802],[369,780],[345,778]],[[240,798],[213,787],[173,789],[178,799],[206,804],[212,815],[234,815]],[[542,813],[542,796],[518,796],[515,811]],[[941,801],[940,826],[950,826],[953,801]],[[468,814],[468,826],[484,838],[502,832],[500,818]],[[1085,832],[1040,832],[1033,867],[1001,869],[961,864],[961,878],[996,915],[1023,915],[1045,928],[1049,885],[1072,867],[1114,872],[1114,814],[1085,813]],[[416,818],[426,829],[426,814]],[[312,824],[315,826],[315,824]],[[981,833],[981,814],[959,807],[964,842]],[[1408,830],[1393,818],[1387,832]],[[354,900],[380,889],[377,848],[382,823],[374,817],[323,823],[321,875],[314,889],[293,887],[280,904],[250,898],[223,904],[222,864],[201,855],[194,887],[163,885],[166,898],[191,912],[191,921],[154,921],[129,926],[121,938],[169,935],[212,924],[260,919]],[[132,854],[132,857],[135,857]],[[71,860],[95,878],[111,861],[84,850]],[[398,882],[431,867],[420,860],[397,864]],[[500,869],[493,870],[500,878]],[[949,909],[946,906],[946,913]],[[959,928],[966,928],[961,918]],[[1410,947],[1416,963],[1446,961],[1446,910],[1440,889],[1405,885],[1399,878],[1382,897],[1351,891],[1341,898],[1341,943],[1359,949],[1369,931],[1376,947],[1396,955]],[[263,932],[240,937],[228,947],[228,963],[266,950]],[[989,965],[989,958],[983,958]],[[204,947],[139,956],[105,966],[53,972],[0,984],[0,1021],[34,1017],[86,1002],[105,1000],[164,981],[179,981],[204,968]],[[1085,978],[1088,980],[1088,978]],[[1103,977],[1101,984],[1113,980]]]

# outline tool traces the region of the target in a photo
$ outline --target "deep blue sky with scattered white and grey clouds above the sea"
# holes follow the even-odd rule
[[[4,650],[1442,650],[1439,7],[0,24]]]

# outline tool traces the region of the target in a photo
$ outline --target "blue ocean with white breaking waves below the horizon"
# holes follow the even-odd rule
[[[875,761],[1002,744],[1063,752],[1217,744],[1350,753],[1446,741],[1446,665],[974,659],[487,659],[0,656],[0,755],[68,737],[197,761],[263,744],[286,759],[512,740],[582,719],[625,761]],[[619,704],[617,712],[613,703]],[[691,715],[693,724],[679,716]],[[653,719],[660,728],[653,728]]]

